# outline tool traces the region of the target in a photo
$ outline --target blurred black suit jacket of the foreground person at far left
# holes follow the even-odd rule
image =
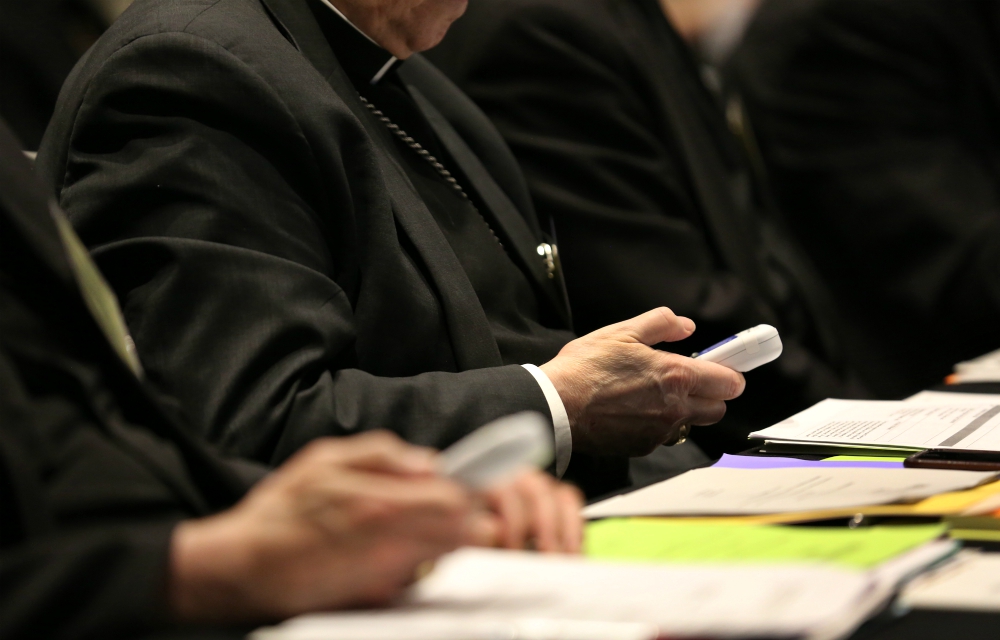
[[[0,123],[0,637],[168,627],[171,531],[233,504],[228,463],[119,360]]]

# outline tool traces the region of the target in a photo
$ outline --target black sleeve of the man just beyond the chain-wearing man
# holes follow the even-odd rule
[[[709,244],[666,125],[614,28],[586,13],[594,3],[526,4],[484,14],[495,21],[486,35],[456,34],[485,40],[446,41],[429,57],[494,121],[539,215],[556,220],[577,332],[661,305],[702,318],[706,339],[746,328],[733,318],[752,315],[752,302]]]

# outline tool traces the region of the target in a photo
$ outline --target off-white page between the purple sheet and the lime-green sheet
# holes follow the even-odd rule
[[[758,515],[915,501],[993,478],[940,469],[725,469],[688,471],[583,510],[585,517]]]

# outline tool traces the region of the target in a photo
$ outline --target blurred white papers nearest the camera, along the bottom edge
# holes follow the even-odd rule
[[[899,581],[951,553],[920,547],[876,570],[823,565],[612,564],[462,550],[399,607],[307,616],[252,640],[653,640],[845,637]]]

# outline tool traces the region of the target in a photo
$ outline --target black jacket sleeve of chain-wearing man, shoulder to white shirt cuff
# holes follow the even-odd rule
[[[330,141],[308,138],[279,88],[185,33],[125,44],[85,91],[40,170],[122,299],[150,379],[210,440],[276,463],[324,435],[391,429],[443,447],[498,416],[547,412],[519,366],[358,367],[364,300],[349,283],[367,233],[355,212],[371,203],[352,197],[377,171],[354,160],[360,135],[320,157]],[[379,322],[403,326],[391,320]]]

